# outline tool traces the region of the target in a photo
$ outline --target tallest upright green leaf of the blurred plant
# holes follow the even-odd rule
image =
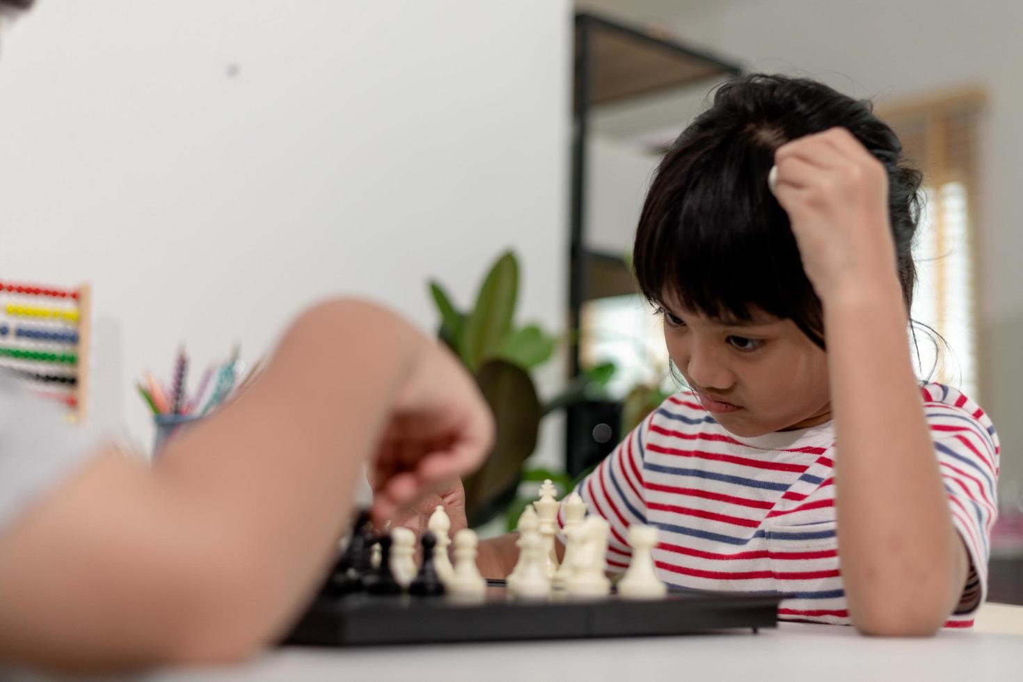
[[[506,252],[483,281],[476,307],[459,336],[461,359],[470,369],[476,370],[484,360],[494,357],[504,344],[511,329],[518,292],[519,263],[513,252]]]

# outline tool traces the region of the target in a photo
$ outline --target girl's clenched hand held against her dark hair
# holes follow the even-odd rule
[[[896,280],[888,173],[845,128],[782,145],[771,191],[789,215],[803,268],[827,303],[864,282]]]

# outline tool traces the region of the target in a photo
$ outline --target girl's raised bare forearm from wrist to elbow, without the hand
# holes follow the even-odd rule
[[[826,303],[825,324],[849,615],[868,634],[932,634],[959,602],[969,565],[909,360],[898,282],[844,290]]]

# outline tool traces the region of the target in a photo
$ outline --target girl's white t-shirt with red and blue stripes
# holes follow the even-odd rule
[[[987,415],[959,391],[938,383],[921,391],[948,508],[971,562],[946,627],[970,627],[986,592],[998,439]],[[740,438],[681,393],[578,492],[590,513],[611,524],[611,573],[628,566],[628,527],[649,524],[660,529],[654,560],[669,585],[790,593],[780,618],[849,624],[835,532],[836,456],[833,422]]]

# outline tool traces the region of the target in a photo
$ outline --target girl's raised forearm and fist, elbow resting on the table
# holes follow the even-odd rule
[[[887,173],[844,129],[791,142],[775,163],[775,194],[824,304],[849,616],[868,634],[933,634],[969,564],[910,362]]]

